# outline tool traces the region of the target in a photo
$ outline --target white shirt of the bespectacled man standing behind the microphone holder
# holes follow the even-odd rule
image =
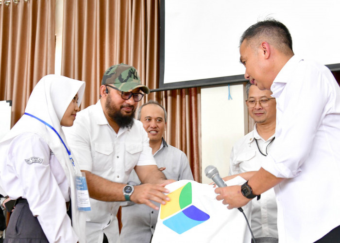
[[[259,152],[259,149],[265,155],[270,154],[272,145],[275,143],[274,137],[275,134],[264,140],[258,134],[255,124],[253,131],[234,144],[230,155],[229,175],[258,171],[261,168],[261,161],[265,157]],[[259,148],[257,148],[255,139]],[[262,193],[260,200],[254,199],[251,203],[251,227],[255,238],[278,238],[277,206],[274,189]]]

